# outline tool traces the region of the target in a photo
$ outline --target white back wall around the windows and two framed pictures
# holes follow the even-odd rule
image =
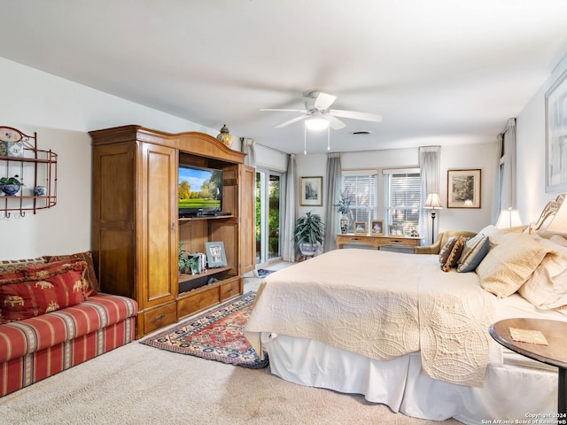
[[[506,123],[502,123],[502,129]],[[480,169],[481,170],[481,208],[462,209],[444,208],[439,211],[435,220],[435,233],[449,229],[461,229],[478,231],[486,225],[491,224],[491,213],[493,206],[493,182],[496,176],[495,165],[497,162],[496,135],[493,140],[486,143],[444,146],[441,148],[439,181],[439,196],[443,205],[447,205],[447,170],[448,169]],[[298,179],[306,176],[323,176],[323,206],[297,208],[298,217],[313,211],[319,213],[326,220],[325,205],[329,202],[325,198],[327,187],[327,155],[298,155],[297,169]],[[393,149],[384,151],[347,152],[341,155],[341,166],[343,170],[376,170],[382,168],[408,168],[418,167],[418,150],[415,149]],[[298,186],[299,187],[299,186]],[[298,195],[299,196],[299,195]],[[336,200],[330,200],[336,203]],[[383,217],[377,217],[381,219]],[[431,219],[426,220],[423,229],[427,241],[431,241]],[[492,223],[494,224],[494,223]]]

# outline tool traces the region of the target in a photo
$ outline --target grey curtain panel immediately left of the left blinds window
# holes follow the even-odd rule
[[[327,154],[327,207],[325,209],[323,252],[334,250],[337,246],[340,218],[334,204],[338,202],[340,197],[341,177],[340,153]]]

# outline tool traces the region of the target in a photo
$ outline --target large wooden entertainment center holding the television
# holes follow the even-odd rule
[[[136,338],[242,294],[242,274],[255,261],[255,172],[245,154],[197,132],[124,126],[89,134],[95,267],[103,292],[136,299]],[[229,215],[179,218],[180,163],[223,171],[222,211]],[[180,274],[179,243],[206,252],[207,242],[224,244],[228,265]]]

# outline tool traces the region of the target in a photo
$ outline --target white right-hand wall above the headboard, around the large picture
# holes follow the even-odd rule
[[[545,191],[545,94],[566,69],[567,56],[517,116],[517,208],[524,223],[537,220],[559,194]]]

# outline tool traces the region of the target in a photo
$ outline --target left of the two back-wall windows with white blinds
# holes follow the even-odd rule
[[[353,233],[354,221],[377,218],[377,171],[343,173],[342,191],[352,200],[348,212],[348,233]]]

